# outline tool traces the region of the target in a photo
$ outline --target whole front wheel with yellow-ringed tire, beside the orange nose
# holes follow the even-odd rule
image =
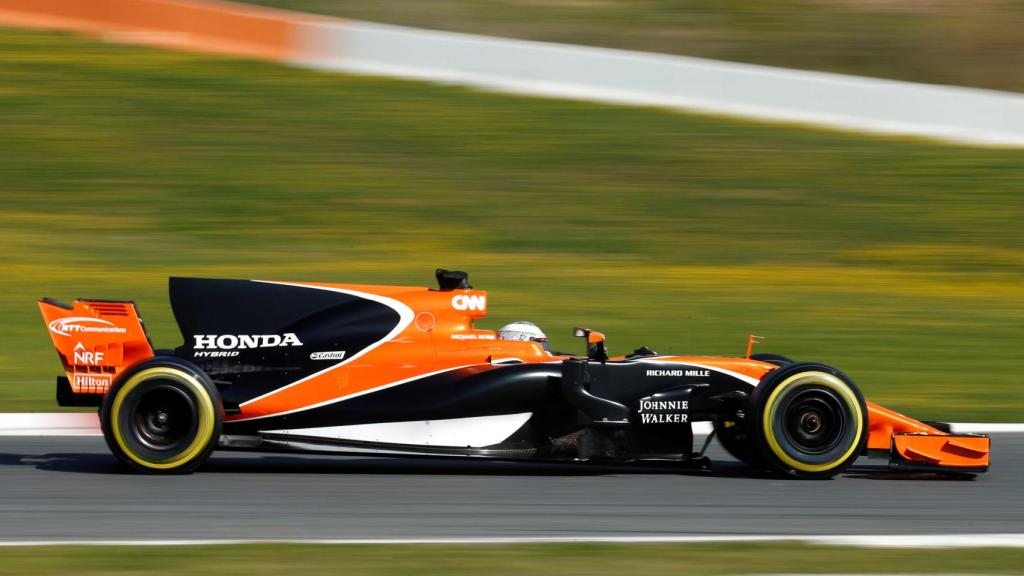
[[[867,407],[857,385],[822,364],[792,364],[771,372],[752,398],[758,450],[776,471],[802,479],[833,478],[867,442]]]

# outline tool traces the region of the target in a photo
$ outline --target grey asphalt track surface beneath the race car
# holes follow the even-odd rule
[[[714,444],[711,472],[219,452],[146,477],[101,438],[0,438],[0,541],[1024,533],[1024,434],[992,451],[973,481],[784,480]]]

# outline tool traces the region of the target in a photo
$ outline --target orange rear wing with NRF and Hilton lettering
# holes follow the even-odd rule
[[[125,368],[153,357],[142,319],[130,300],[79,299],[66,304],[43,298],[39,312],[63,365],[67,380],[57,380],[61,405],[61,388],[96,398]]]

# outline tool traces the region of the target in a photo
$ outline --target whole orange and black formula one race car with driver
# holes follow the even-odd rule
[[[131,301],[44,298],[66,373],[57,403],[100,407],[111,450],[145,472],[195,470],[214,449],[701,469],[698,421],[739,460],[798,478],[874,451],[899,470],[988,469],[987,437],[864,402],[823,364],[750,345],[744,358],[609,358],[584,328],[586,356],[549,353],[477,329],[486,292],[465,273],[436,276],[436,289],[171,278],[174,349],[153,348]]]

